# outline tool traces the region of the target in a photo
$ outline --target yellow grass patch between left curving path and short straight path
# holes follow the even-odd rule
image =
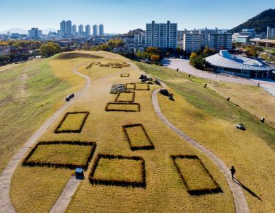
[[[17,212],[49,212],[72,170],[23,166],[12,177],[12,204]]]

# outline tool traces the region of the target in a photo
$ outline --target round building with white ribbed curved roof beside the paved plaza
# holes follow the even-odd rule
[[[227,50],[221,50],[205,60],[217,71],[245,78],[269,78],[274,70],[259,60],[231,55]]]

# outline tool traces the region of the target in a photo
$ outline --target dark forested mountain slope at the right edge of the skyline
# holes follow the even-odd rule
[[[267,26],[275,28],[275,9],[269,9],[234,27],[230,32],[241,32],[241,29],[254,28],[257,33],[266,32]]]

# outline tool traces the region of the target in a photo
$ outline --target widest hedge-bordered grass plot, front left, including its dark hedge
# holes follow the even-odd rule
[[[87,169],[95,149],[94,142],[39,142],[32,148],[22,165]]]

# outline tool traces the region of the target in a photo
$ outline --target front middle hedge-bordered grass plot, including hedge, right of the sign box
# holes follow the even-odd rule
[[[106,186],[146,186],[144,159],[122,155],[101,155],[96,157],[89,181]]]

